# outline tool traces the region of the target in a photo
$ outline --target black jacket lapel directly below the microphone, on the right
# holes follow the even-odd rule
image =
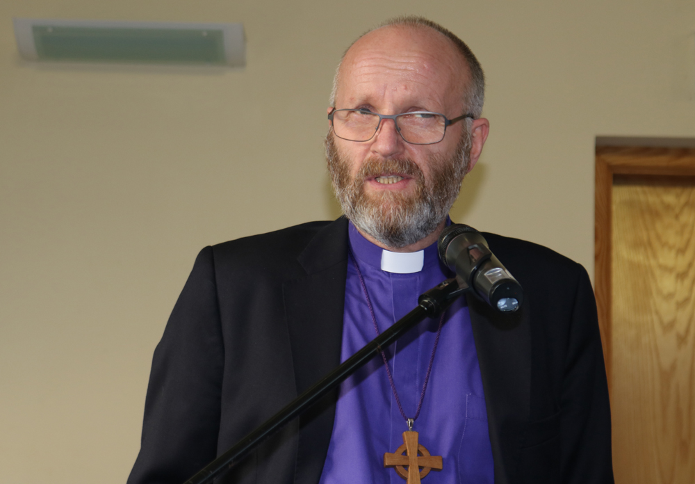
[[[485,392],[495,483],[514,481],[518,451],[529,420],[531,387],[530,302],[510,315],[467,294]]]

